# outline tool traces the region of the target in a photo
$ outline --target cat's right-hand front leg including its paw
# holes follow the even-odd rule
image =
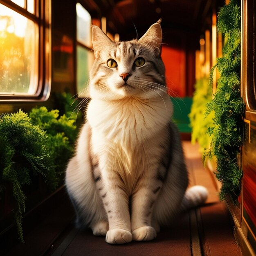
[[[156,168],[151,166],[151,170],[144,172],[132,196],[131,229],[136,241],[153,240],[157,236],[152,227],[152,213],[162,182],[155,175]]]

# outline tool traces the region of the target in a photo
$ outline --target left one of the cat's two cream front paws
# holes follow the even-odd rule
[[[110,229],[106,235],[109,244],[124,244],[132,241],[132,233],[126,229]]]

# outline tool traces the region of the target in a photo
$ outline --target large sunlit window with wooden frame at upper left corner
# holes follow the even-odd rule
[[[47,98],[49,5],[49,0],[1,1],[0,100]]]

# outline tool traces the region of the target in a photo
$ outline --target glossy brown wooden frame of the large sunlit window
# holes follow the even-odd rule
[[[38,24],[38,83],[34,95],[1,94],[0,102],[46,101],[51,91],[51,0],[35,0],[35,14],[20,7],[11,0],[0,0],[0,4],[16,11]]]

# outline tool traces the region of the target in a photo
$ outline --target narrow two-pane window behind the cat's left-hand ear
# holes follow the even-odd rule
[[[94,61],[91,41],[92,18],[79,3],[76,4],[76,88],[79,97],[88,96],[89,72]]]

